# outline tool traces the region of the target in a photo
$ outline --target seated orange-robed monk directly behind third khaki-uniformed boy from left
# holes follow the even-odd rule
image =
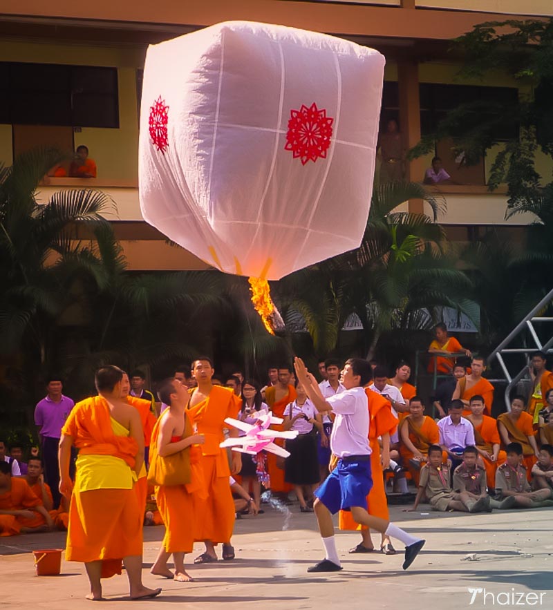
[[[526,468],[527,478],[531,481],[532,466],[538,461],[539,450],[534,437],[532,415],[524,412],[525,403],[524,397],[514,397],[511,401],[511,410],[500,414],[497,418],[497,427],[505,447],[511,443],[521,444],[523,448],[522,463]]]

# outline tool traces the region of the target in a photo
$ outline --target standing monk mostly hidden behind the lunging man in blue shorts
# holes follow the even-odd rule
[[[371,453],[373,487],[367,496],[367,512],[373,517],[389,521],[390,511],[384,488],[384,470],[390,465],[390,437],[397,428],[397,417],[392,414],[390,401],[369,388],[365,388],[365,394],[368,401],[368,442],[373,450]],[[382,437],[382,455],[378,437]],[[350,549],[350,553],[371,553],[375,550],[371,531],[368,527],[356,523],[350,511],[340,511],[338,522],[341,530],[361,531],[362,541]],[[384,555],[395,555],[395,549],[386,533],[382,533],[380,550]]]

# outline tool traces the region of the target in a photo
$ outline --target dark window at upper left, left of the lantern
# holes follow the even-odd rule
[[[118,128],[117,69],[0,62],[0,123]]]

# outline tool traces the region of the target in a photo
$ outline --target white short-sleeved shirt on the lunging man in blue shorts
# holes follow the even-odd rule
[[[330,449],[338,457],[371,455],[368,445],[368,399],[364,388],[351,388],[326,399],[336,414]]]

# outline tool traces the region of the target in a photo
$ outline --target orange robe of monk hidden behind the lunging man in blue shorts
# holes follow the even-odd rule
[[[367,395],[367,406],[369,412],[368,441],[371,446],[371,475],[373,487],[367,496],[368,513],[374,517],[380,517],[386,521],[390,518],[388,502],[386,501],[386,490],[384,488],[384,475],[380,462],[380,445],[378,437],[386,433],[393,435],[397,428],[397,418],[392,414],[390,401],[386,400],[377,392],[365,388]],[[338,524],[341,530],[357,531],[366,529],[356,523],[350,511],[340,511]]]

